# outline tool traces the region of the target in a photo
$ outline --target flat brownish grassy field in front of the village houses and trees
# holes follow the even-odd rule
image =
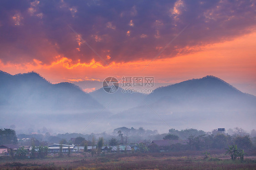
[[[205,158],[199,154],[189,156],[173,153],[109,154],[91,157],[83,154],[48,156],[34,160],[0,160],[1,170],[255,170],[256,157],[243,162],[230,160],[224,155]]]

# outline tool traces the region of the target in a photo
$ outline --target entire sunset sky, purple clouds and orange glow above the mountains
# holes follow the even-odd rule
[[[86,92],[109,76],[214,75],[256,95],[255,47],[254,0],[0,1],[0,70]]]

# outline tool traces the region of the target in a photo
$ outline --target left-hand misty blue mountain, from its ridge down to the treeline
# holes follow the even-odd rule
[[[15,125],[20,133],[43,127],[59,133],[102,131],[102,123],[111,115],[78,86],[51,84],[35,72],[0,71],[0,94],[0,128]]]

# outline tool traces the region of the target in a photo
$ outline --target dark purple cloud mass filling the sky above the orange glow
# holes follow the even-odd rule
[[[88,62],[153,59],[186,25],[163,56],[186,46],[230,40],[255,29],[254,1],[0,1],[0,60],[49,64],[56,55]],[[68,27],[70,25],[77,36]],[[79,45],[80,44],[80,45]],[[110,56],[110,57],[108,57]],[[103,63],[102,63],[103,64]]]

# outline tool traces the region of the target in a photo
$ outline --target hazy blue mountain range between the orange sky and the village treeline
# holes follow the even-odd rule
[[[214,76],[160,87],[149,95],[123,94],[120,89],[108,94],[102,88],[87,94],[71,83],[51,84],[35,72],[0,71],[0,93],[0,128],[15,125],[25,132],[47,127],[91,133],[123,126],[160,132],[237,126],[251,130],[256,120],[256,97]]]

